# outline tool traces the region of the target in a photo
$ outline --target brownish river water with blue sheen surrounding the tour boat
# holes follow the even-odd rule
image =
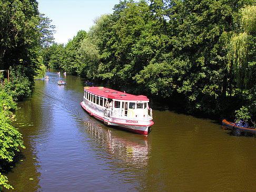
[[[18,103],[26,149],[7,175],[9,191],[255,190],[255,137],[154,102],[149,135],[107,127],[80,105],[85,79],[47,75]]]

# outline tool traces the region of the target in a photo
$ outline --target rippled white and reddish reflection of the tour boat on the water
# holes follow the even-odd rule
[[[96,139],[97,146],[107,149],[111,158],[125,161],[136,166],[146,166],[150,147],[147,145],[147,138],[142,135],[131,133],[132,137],[117,135],[109,128],[105,129],[97,124],[84,121],[86,131],[93,139]],[[130,133],[129,133],[130,134]],[[127,135],[126,135],[127,136]]]

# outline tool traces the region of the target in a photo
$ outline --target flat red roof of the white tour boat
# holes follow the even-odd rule
[[[119,100],[144,100],[149,101],[149,99],[144,95],[132,95],[125,92],[119,92],[118,90],[106,88],[106,87],[84,87],[84,90],[87,92],[99,95],[102,97],[107,97],[110,99],[119,99]]]

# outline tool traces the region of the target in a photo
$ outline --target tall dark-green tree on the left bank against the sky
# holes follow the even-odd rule
[[[37,6],[36,0],[0,1],[0,69],[13,73],[10,78],[13,85],[9,87],[12,91],[24,85],[31,92],[42,65],[40,50],[53,42],[54,26],[38,12]],[[22,94],[18,93],[14,99],[29,95]]]

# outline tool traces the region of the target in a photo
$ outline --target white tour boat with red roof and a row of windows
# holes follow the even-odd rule
[[[106,125],[147,135],[152,121],[149,99],[105,87],[84,87],[81,106]]]

